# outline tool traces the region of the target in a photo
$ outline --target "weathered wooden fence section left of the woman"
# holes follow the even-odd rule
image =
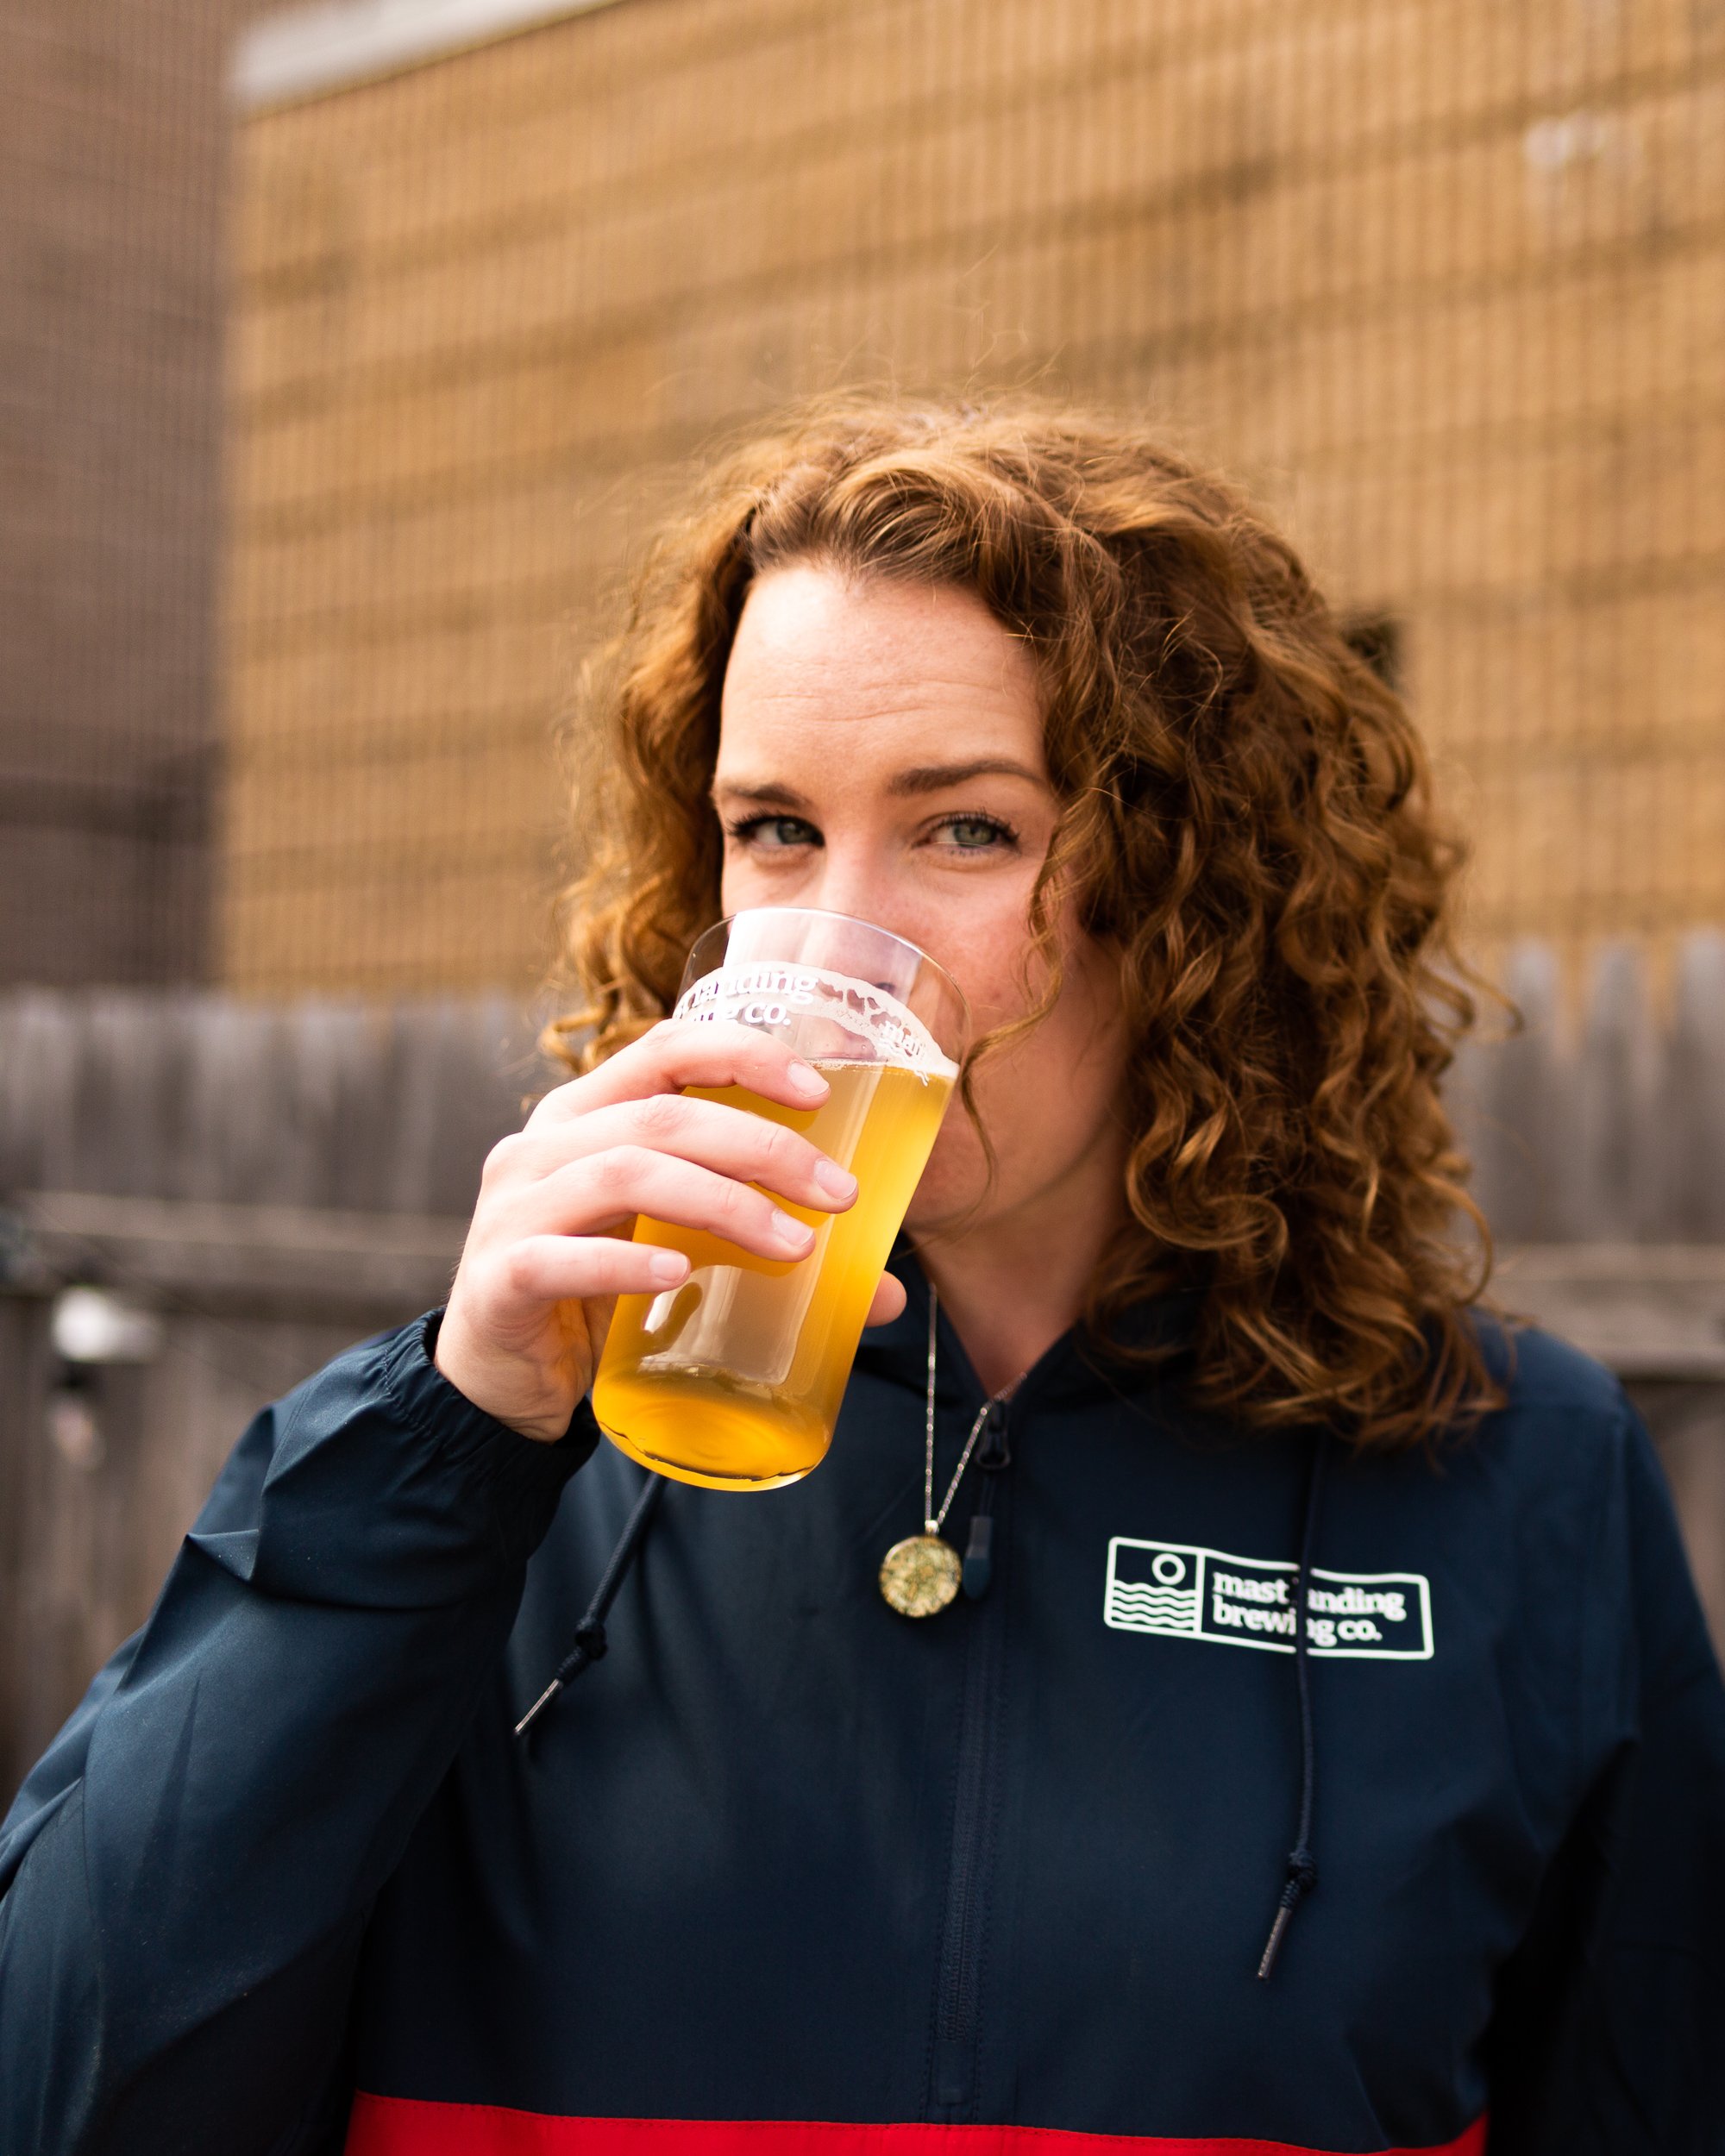
[[[0,1781],[140,1621],[259,1406],[442,1298],[541,1082],[505,1003],[0,1000]],[[67,1281],[153,1311],[162,1352],[69,1388]]]

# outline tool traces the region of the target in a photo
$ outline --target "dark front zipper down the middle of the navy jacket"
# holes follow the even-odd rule
[[[998,1567],[1000,1537],[994,1496],[1011,1466],[1007,1408],[998,1404],[985,1427],[977,1460],[983,1483],[977,1516],[988,1518],[988,1572]],[[972,1533],[975,1546],[975,1533]],[[983,1578],[983,1589],[990,1580]],[[985,1593],[970,1617],[960,1708],[957,1774],[953,1783],[953,1843],[947,1867],[947,1908],[940,1925],[940,1960],[934,1984],[934,2042],[929,2046],[929,2111],[936,2117],[970,2117],[977,2109],[977,2040],[988,1874],[994,1858],[996,1725],[1000,1718],[1005,1649],[1005,1595]]]

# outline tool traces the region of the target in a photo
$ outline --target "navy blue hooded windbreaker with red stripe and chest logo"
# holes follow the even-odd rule
[[[895,1263],[826,1464],[668,1485],[520,1742],[638,1468],[436,1317],[252,1423],[6,1820],[4,2156],[1725,2147],[1725,1695],[1613,1380],[1520,1335],[1436,1462],[1333,1447],[1259,1981],[1313,1445],[1070,1335],[955,1505],[988,1591],[897,1617]],[[979,1404],[942,1319],[940,1485]]]

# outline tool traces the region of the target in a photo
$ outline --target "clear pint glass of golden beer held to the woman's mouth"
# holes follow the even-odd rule
[[[761,1026],[813,1063],[830,1087],[819,1108],[744,1087],[684,1091],[800,1130],[858,1192],[841,1214],[774,1194],[815,1231],[800,1259],[638,1218],[636,1242],[684,1250],[692,1272],[664,1294],[617,1298],[593,1412],[612,1445],[660,1475],[772,1490],[800,1481],[832,1440],[862,1319],[957,1080],[964,998],[901,936],[765,906],[707,929],[671,1015]]]

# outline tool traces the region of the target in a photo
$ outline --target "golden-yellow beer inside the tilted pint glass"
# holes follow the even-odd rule
[[[856,1175],[856,1203],[774,1203],[815,1231],[802,1259],[768,1259],[703,1229],[636,1220],[636,1242],[684,1250],[692,1272],[660,1296],[619,1296],[593,1412],[632,1460],[709,1490],[772,1490],[819,1464],[839,1419],[875,1283],[927,1164],[957,1069],[942,1056],[811,1056],[830,1093],[787,1108],[744,1087],[688,1087],[802,1132]]]

